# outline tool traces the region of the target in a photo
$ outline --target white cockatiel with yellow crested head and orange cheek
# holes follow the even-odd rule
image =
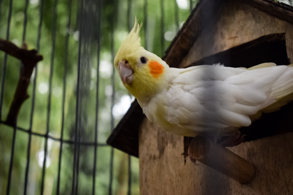
[[[170,68],[141,46],[140,28],[135,20],[114,65],[147,118],[164,130],[190,137],[235,135],[261,113],[276,111],[293,99],[290,65]]]

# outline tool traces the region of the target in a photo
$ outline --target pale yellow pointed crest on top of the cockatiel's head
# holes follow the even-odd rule
[[[117,65],[120,58],[125,58],[130,54],[133,54],[141,49],[143,47],[141,46],[141,39],[139,36],[140,28],[142,27],[142,23],[138,24],[137,19],[135,17],[135,22],[132,30],[127,35],[126,39],[121,43],[121,46],[115,56],[114,64]]]

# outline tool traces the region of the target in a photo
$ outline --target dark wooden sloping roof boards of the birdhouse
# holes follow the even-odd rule
[[[185,24],[165,52],[163,60],[171,67],[178,67],[197,40],[207,21],[216,20],[219,8],[229,0],[202,0],[193,9]],[[238,0],[259,11],[293,24],[293,7],[272,0]],[[276,36],[283,36],[278,34]],[[269,37],[271,38],[271,37]],[[193,63],[192,65],[196,65]],[[226,65],[226,64],[225,64]],[[107,140],[107,144],[138,157],[139,127],[145,115],[135,100]]]

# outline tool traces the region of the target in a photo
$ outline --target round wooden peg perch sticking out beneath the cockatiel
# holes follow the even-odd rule
[[[231,177],[240,183],[248,183],[255,175],[254,166],[230,150],[203,136],[193,138],[188,153],[205,165]]]

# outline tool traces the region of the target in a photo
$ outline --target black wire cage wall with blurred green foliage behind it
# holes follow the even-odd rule
[[[138,160],[105,144],[131,103],[115,51],[137,15],[144,47],[163,56],[196,2],[0,0],[0,38],[44,58],[11,125],[23,64],[0,53],[0,194],[139,194]]]

